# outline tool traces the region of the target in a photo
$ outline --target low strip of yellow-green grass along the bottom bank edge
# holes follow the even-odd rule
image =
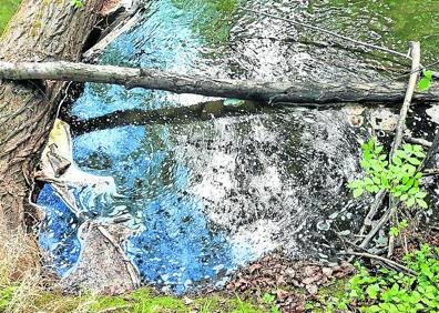
[[[4,289],[6,290],[6,289]],[[13,289],[16,290],[16,289]],[[2,294],[8,295],[3,296]],[[242,301],[237,295],[227,296],[212,294],[206,296],[174,297],[160,295],[151,289],[140,289],[119,296],[93,294],[63,295],[60,292],[35,291],[22,306],[8,306],[13,302],[11,292],[0,291],[0,312],[118,312],[118,313],[185,313],[185,312],[234,312],[257,313],[269,312],[269,307],[251,301]],[[20,303],[20,301],[18,302]]]

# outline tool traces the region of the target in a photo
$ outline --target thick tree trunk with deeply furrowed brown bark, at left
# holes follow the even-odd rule
[[[0,41],[0,61],[79,61],[105,0],[24,0]],[[53,124],[63,83],[0,84],[0,214],[9,229],[34,216],[29,204],[33,172]]]

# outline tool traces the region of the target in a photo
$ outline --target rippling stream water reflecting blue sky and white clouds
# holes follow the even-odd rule
[[[151,1],[141,22],[118,38],[102,64],[265,81],[388,83],[384,69],[407,61],[346,49],[334,38],[242,8],[316,24],[405,51],[422,41],[433,61],[437,1]],[[124,249],[145,284],[177,293],[222,285],[241,265],[282,250],[290,258],[334,262],[334,230],[358,229],[370,198],[354,200],[345,183],[359,175],[359,139],[369,135],[339,109],[263,109],[257,113],[186,123],[114,127],[120,111],[191,105],[213,99],[86,83],[71,114],[105,117],[101,129],[73,139],[81,170],[112,176],[115,190],[93,185],[75,193],[96,222],[123,216]],[[421,114],[421,113],[419,113]],[[431,139],[428,130],[417,134]],[[64,275],[80,254],[73,215],[50,185],[40,243]]]

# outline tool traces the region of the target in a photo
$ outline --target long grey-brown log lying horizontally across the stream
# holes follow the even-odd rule
[[[157,89],[176,93],[296,104],[395,103],[402,102],[406,92],[406,83],[401,82],[392,82],[388,85],[384,83],[353,83],[347,85],[225,80],[178,74],[155,69],[73,62],[0,62],[0,79],[114,83],[126,88]],[[427,92],[416,93],[414,101],[438,102],[439,90],[430,88]]]

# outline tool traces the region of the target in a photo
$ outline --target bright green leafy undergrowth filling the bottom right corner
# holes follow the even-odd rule
[[[405,256],[416,276],[378,267],[375,274],[357,264],[358,273],[349,280],[346,293],[331,297],[326,312],[335,307],[360,312],[439,312],[439,249],[428,244]],[[354,311],[354,310],[351,310]]]

